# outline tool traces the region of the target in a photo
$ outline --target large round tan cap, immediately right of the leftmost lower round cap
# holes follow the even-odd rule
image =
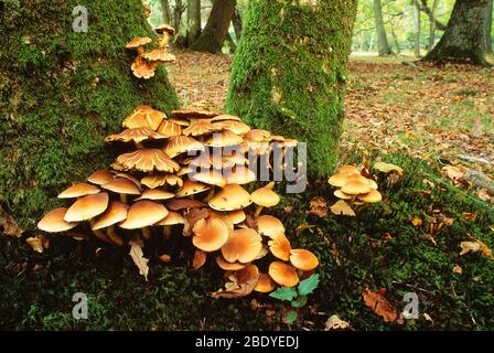
[[[251,229],[236,229],[229,233],[228,240],[222,247],[223,257],[228,263],[250,263],[262,249],[262,238]]]

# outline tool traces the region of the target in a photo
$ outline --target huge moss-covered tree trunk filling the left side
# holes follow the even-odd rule
[[[0,51],[0,203],[26,229],[61,204],[60,190],[109,167],[104,137],[121,130],[136,106],[178,106],[164,67],[148,81],[130,71],[136,52],[126,43],[155,39],[141,1],[84,1],[87,33],[80,3],[1,2],[9,50]]]

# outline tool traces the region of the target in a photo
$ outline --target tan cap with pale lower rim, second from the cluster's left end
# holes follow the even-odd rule
[[[66,222],[82,222],[92,220],[106,211],[108,207],[108,194],[100,192],[78,199],[68,207],[64,220]]]

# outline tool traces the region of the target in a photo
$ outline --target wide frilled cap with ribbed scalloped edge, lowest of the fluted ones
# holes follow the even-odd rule
[[[157,148],[141,148],[133,152],[120,154],[117,158],[117,163],[126,169],[142,172],[157,170],[173,173],[180,169],[179,163]]]

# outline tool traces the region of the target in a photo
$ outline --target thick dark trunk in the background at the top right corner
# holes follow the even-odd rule
[[[423,60],[485,65],[484,23],[488,0],[457,0],[447,30]]]

